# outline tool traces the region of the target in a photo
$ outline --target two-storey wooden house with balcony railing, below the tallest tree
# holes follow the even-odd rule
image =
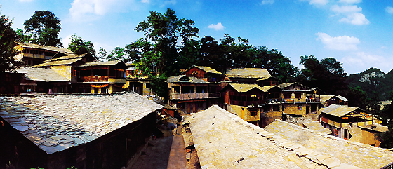
[[[196,77],[171,76],[168,83],[168,104],[177,107],[180,114],[190,114],[206,109],[212,102],[217,104],[221,93],[211,93],[210,85],[216,85]]]

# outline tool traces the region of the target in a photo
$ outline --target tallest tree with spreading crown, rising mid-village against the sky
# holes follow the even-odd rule
[[[185,18],[179,19],[175,15],[175,11],[171,8],[166,10],[166,13],[159,13],[157,11],[150,11],[147,20],[142,21],[136,27],[137,32],[145,32],[145,39],[153,42],[152,53],[148,53],[154,60],[154,64],[150,67],[156,76],[171,76],[174,74],[173,70],[179,69],[178,66],[178,51],[177,46],[179,36],[183,40],[183,44],[196,37],[199,29],[193,26],[194,21]],[[150,52],[150,51],[149,51]]]

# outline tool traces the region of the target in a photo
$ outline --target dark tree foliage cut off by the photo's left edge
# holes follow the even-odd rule
[[[15,70],[15,64],[18,63],[13,58],[16,54],[13,47],[17,36],[11,25],[12,20],[0,13],[0,74]]]

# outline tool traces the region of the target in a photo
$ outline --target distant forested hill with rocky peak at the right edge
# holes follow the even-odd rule
[[[385,74],[380,69],[371,67],[359,74],[349,75],[346,82],[350,87],[361,87],[368,98],[389,100],[389,93],[393,91],[393,69]]]

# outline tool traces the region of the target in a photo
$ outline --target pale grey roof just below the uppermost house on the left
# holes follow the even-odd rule
[[[25,74],[25,77],[32,81],[69,81],[69,79],[58,74],[53,69],[25,67],[18,68],[16,71]]]

